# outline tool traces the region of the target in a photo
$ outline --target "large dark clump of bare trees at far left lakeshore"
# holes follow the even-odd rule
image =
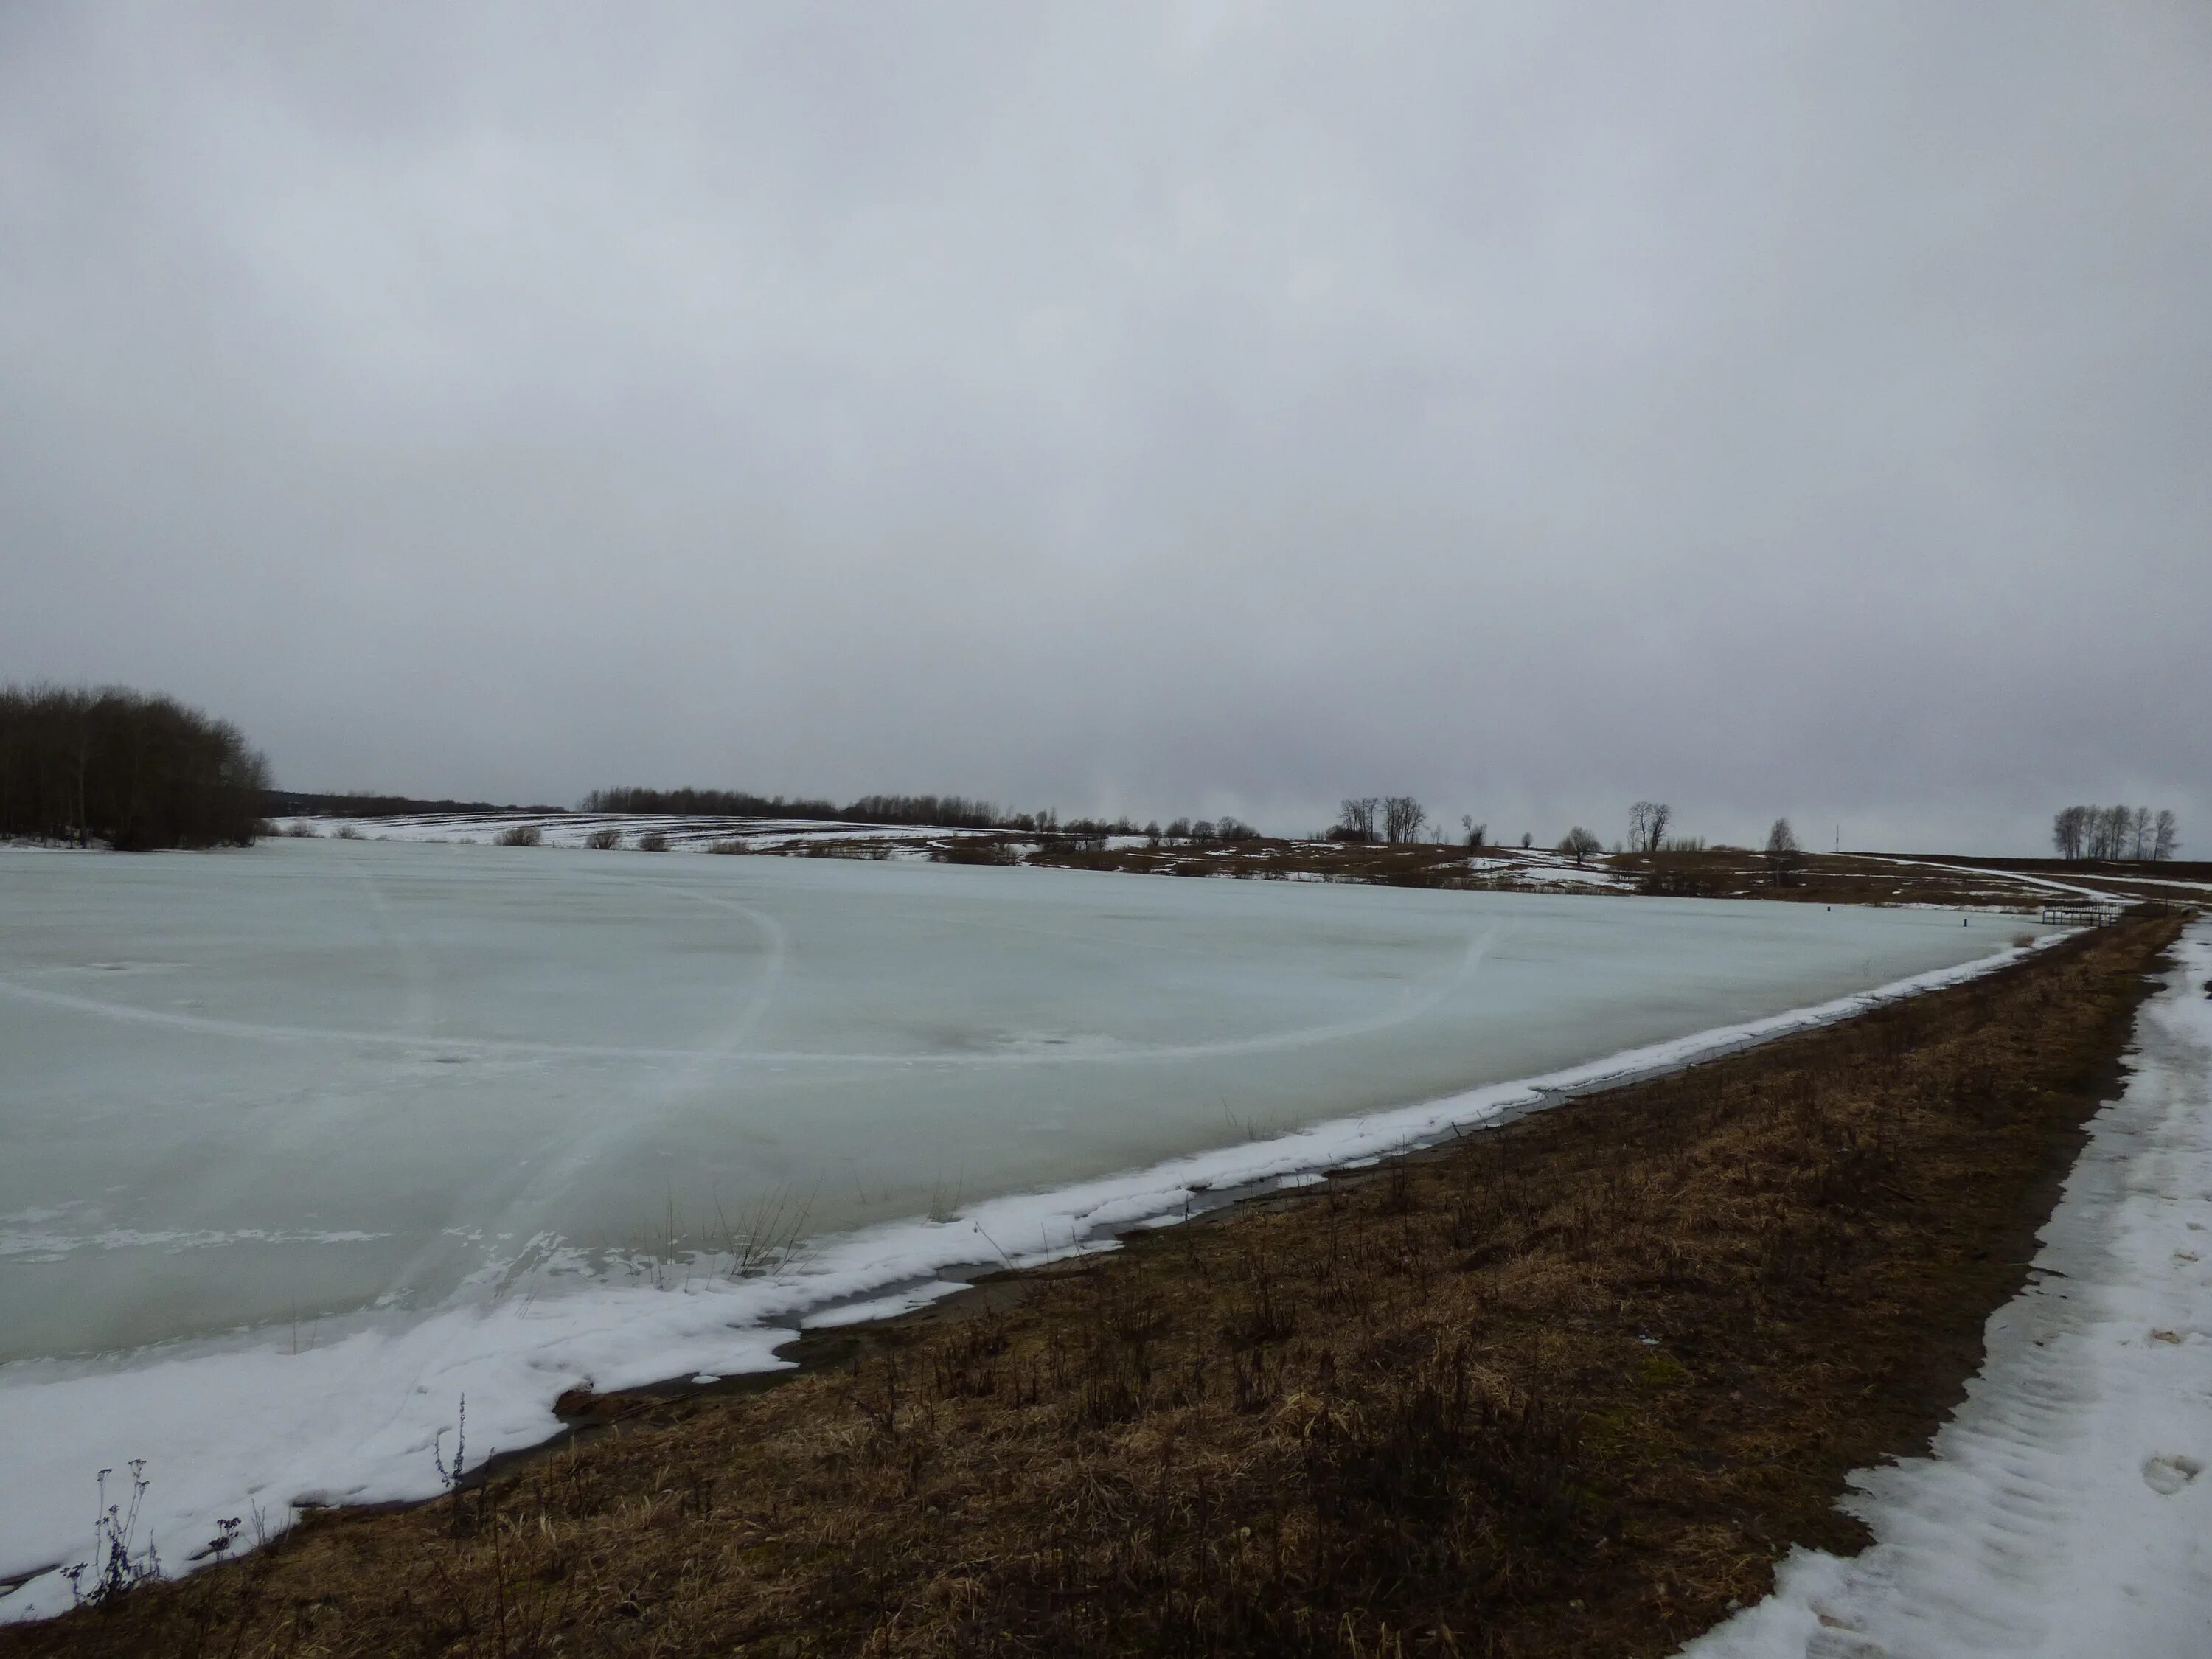
[[[117,852],[246,847],[268,763],[228,721],[106,686],[0,688],[0,834]]]

